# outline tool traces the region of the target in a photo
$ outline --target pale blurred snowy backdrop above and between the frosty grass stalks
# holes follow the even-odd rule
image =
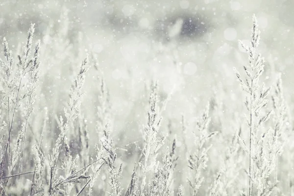
[[[241,70],[247,63],[238,40],[249,43],[253,14],[266,59],[263,77],[273,85],[276,71],[282,73],[285,97],[293,99],[293,8],[293,0],[0,0],[0,39],[6,37],[17,54],[35,24],[42,61],[36,110],[41,115],[48,110],[51,131],[89,54],[81,111],[90,132],[95,133],[103,78],[115,144],[142,138],[152,81],[158,81],[163,133],[181,134],[182,115],[193,127],[210,102],[219,108],[216,116],[230,119],[214,119],[214,129],[232,134],[244,114],[233,67]],[[99,141],[95,135],[90,139],[93,145]]]

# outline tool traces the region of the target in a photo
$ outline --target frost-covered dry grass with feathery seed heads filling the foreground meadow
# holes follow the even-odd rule
[[[112,108],[111,93],[94,54],[85,58],[80,66],[69,60],[72,84],[65,82],[66,87],[57,84],[59,86],[52,89],[69,89],[66,98],[57,91],[50,100],[46,98],[49,95],[42,93],[46,85],[44,73],[57,71],[45,69],[48,61],[41,63],[42,45],[40,41],[34,44],[33,34],[34,25],[31,25],[17,60],[3,39],[4,56],[0,60],[2,195],[293,194],[293,180],[284,178],[281,170],[281,167],[292,168],[282,153],[284,148],[287,156],[293,156],[287,140],[292,136],[290,104],[283,95],[281,76],[269,81],[262,75],[265,60],[257,53],[260,31],[255,16],[250,46],[241,43],[249,61],[240,62],[245,64],[245,74],[235,69],[245,92],[245,109],[241,98],[227,104],[228,98],[222,96],[225,90],[220,89],[205,109],[199,104],[196,113],[200,116],[196,120],[187,120],[189,112],[185,110],[175,115],[178,118],[165,119],[165,115],[173,112],[169,110],[173,95],[163,96],[157,82],[147,82],[137,105],[141,111],[138,115],[148,107],[143,130],[140,126],[136,128],[141,130],[141,137],[136,137],[132,130],[122,133],[111,128],[116,124],[118,111]],[[58,47],[59,50],[66,48],[65,45]],[[46,70],[43,74],[42,69]],[[91,74],[93,81],[88,76]],[[85,92],[89,85],[86,80],[98,86],[95,95]],[[273,85],[274,91],[264,83],[260,87],[260,81]],[[83,101],[91,96],[95,102]],[[59,106],[57,103],[63,100],[67,104],[62,111],[54,104]],[[54,104],[47,107],[49,102]],[[232,104],[242,109],[236,113]],[[85,105],[95,108],[95,115],[87,112]],[[136,114],[131,115],[134,117],[131,121],[136,121]],[[289,147],[285,147],[287,145]]]

